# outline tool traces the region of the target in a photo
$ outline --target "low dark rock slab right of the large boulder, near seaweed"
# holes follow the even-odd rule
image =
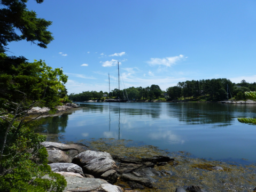
[[[146,187],[152,188],[152,183],[150,182],[150,180],[148,178],[143,178],[141,175],[139,174],[134,174],[133,173],[125,173],[121,175],[121,180],[122,181],[134,181],[136,183],[139,183],[141,185],[144,185]]]

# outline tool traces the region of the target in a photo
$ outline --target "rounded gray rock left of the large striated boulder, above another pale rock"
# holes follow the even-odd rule
[[[72,157],[62,150],[48,150],[48,163],[71,163]]]

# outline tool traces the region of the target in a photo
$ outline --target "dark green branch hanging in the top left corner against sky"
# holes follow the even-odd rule
[[[43,0],[37,0],[42,3]],[[34,11],[26,9],[27,0],[0,1],[0,53],[6,51],[8,42],[26,39],[28,42],[46,48],[52,40],[52,33],[47,30],[51,21],[37,18]],[[21,35],[17,34],[17,30]]]

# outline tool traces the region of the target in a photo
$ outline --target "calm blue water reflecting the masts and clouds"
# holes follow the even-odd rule
[[[255,118],[256,105],[131,102],[80,103],[80,107],[42,119],[43,127],[63,134],[66,141],[130,139],[200,158],[256,162],[256,126],[237,121]]]

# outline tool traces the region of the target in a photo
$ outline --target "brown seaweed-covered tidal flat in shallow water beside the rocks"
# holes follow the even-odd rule
[[[49,135],[48,140],[54,141],[56,135]],[[73,143],[65,141],[66,143]],[[177,187],[199,186],[210,191],[253,191],[256,187],[256,164],[241,165],[235,162],[210,161],[195,158],[186,151],[169,153],[151,145],[132,140],[91,139],[77,141],[89,146],[91,150],[106,151],[112,156],[149,158],[164,155],[175,159],[164,166],[154,166],[157,171],[168,171],[171,174],[153,176],[153,188],[136,189],[137,191],[175,191]],[[215,170],[213,167],[222,167]],[[129,188],[126,182],[118,179],[114,185]]]

